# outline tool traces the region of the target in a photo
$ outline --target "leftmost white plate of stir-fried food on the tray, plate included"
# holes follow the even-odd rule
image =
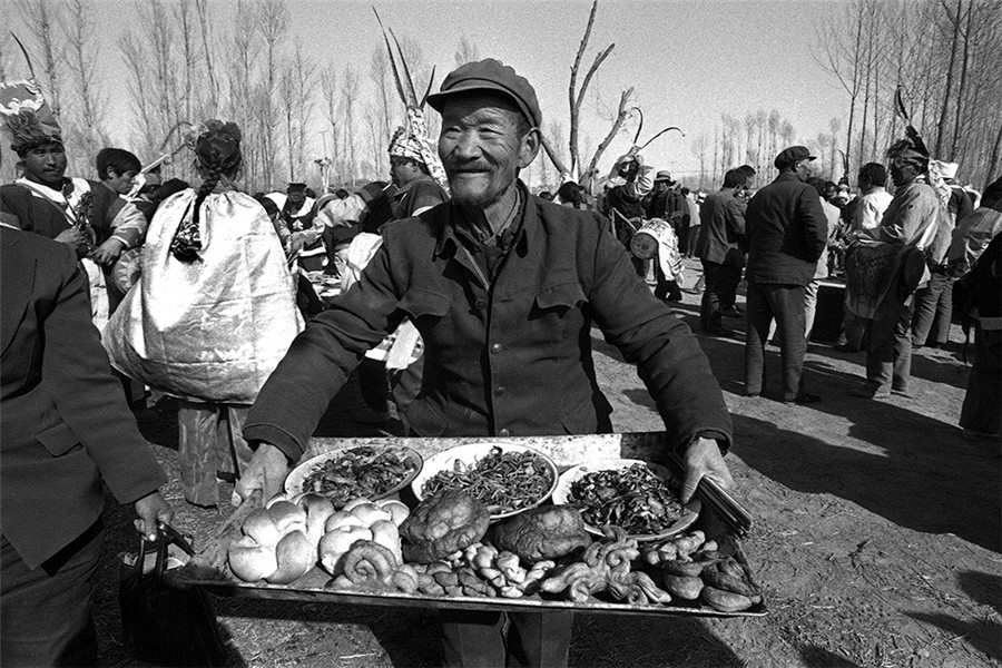
[[[334,450],[293,469],[285,479],[285,491],[315,492],[341,508],[358,497],[375,501],[395,494],[421,473],[422,465],[421,455],[404,446]]]

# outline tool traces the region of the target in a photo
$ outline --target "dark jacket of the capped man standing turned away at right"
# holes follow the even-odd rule
[[[804,285],[828,240],[821,197],[790,171],[755,194],[745,215],[750,283]]]

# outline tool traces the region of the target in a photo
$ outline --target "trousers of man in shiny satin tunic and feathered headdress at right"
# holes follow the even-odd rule
[[[893,287],[867,323],[866,385],[906,392],[912,375],[912,295]]]

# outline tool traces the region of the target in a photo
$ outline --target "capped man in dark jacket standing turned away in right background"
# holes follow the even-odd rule
[[[782,361],[784,403],[814,403],[816,394],[802,386],[807,352],[804,292],[828,242],[828,223],[821,197],[807,185],[811,155],[790,146],[776,156],[779,170],[768,186],[748,202],[748,281],[745,338],[745,393],[758,396],[764,387],[765,344],[776,321]]]

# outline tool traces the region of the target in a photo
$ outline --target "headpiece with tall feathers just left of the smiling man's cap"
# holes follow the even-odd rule
[[[428,167],[428,171],[432,175],[432,178],[434,178],[440,186],[445,188],[445,191],[448,193],[449,179],[445,177],[445,169],[442,167],[442,161],[439,159],[438,154],[431,148],[431,143],[428,138],[428,121],[424,118],[424,105],[428,101],[432,84],[435,80],[435,69],[432,68],[432,75],[428,81],[428,90],[424,91],[421,99],[418,99],[418,90],[414,88],[414,78],[411,76],[411,70],[407,68],[407,61],[403,57],[403,49],[400,48],[400,41],[396,39],[396,36],[393,35],[392,29],[387,29],[383,26],[380,13],[374,7],[372,8],[372,11],[375,13],[376,21],[380,23],[380,29],[383,31],[383,41],[386,43],[386,51],[390,53],[390,67],[393,69],[393,80],[396,84],[396,92],[400,94],[400,99],[407,110],[406,126],[397,127],[390,139],[390,155],[422,163]],[[386,35],[387,32],[390,33],[389,37]],[[393,47],[390,46],[391,37],[393,38],[393,43],[396,45],[395,52]],[[400,68],[396,66],[397,58],[400,58]],[[404,87],[403,77],[401,77],[401,69],[403,69],[404,77],[406,78],[406,88]]]

